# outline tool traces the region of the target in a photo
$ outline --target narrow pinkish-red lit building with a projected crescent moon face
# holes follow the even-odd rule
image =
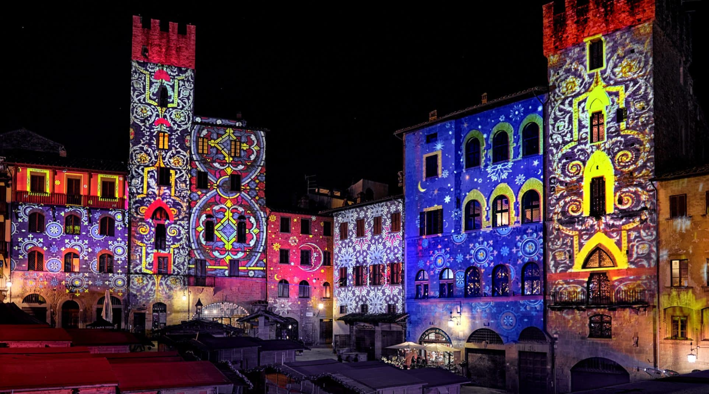
[[[332,343],[333,218],[293,210],[268,218],[268,305],[289,322],[277,337]]]

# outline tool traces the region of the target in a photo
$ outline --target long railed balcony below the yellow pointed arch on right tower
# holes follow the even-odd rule
[[[613,293],[587,295],[585,290],[552,291],[549,308],[644,308],[652,293],[647,290],[617,290]]]

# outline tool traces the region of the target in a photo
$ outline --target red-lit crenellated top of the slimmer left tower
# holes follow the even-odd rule
[[[150,28],[143,28],[142,20],[133,16],[133,60],[194,69],[194,25],[180,34],[177,23],[169,22],[168,31],[162,31],[159,20],[151,19]]]

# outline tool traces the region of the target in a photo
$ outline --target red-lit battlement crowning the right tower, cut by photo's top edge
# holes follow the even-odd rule
[[[652,21],[654,0],[557,0],[543,7],[544,55],[584,38]]]

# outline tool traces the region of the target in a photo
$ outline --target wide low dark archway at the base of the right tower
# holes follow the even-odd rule
[[[623,383],[630,383],[630,374],[610,359],[591,357],[571,367],[571,391],[593,390]]]

